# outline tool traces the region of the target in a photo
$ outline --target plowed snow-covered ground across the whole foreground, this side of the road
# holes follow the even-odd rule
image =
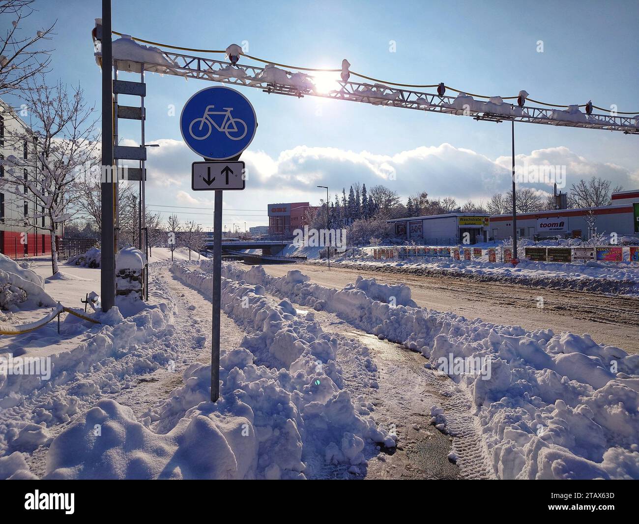
[[[69,282],[76,295],[95,289],[95,269],[66,271],[83,280],[44,283],[54,299],[72,298]],[[50,374],[0,374],[0,477],[364,475],[380,450],[405,443],[371,403],[388,370],[380,376],[366,338],[329,331],[334,315],[423,356],[436,395],[404,376],[384,390],[429,399],[412,409],[452,439],[443,457],[462,473],[639,478],[639,356],[618,347],[415,307],[403,284],[360,277],[328,289],[297,270],[277,278],[224,264],[213,404],[211,262],[155,262],[150,273],[148,305],[129,300],[94,314],[100,325],[69,315],[60,335],[52,323],[0,340],[4,357],[48,356]]]

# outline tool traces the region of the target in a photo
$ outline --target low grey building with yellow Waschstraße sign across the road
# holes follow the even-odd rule
[[[477,244],[488,241],[488,213],[449,213],[387,220],[390,234],[416,244]]]

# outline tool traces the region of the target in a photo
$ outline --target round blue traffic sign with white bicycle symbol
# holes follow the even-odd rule
[[[258,119],[240,91],[213,86],[197,91],[180,115],[182,138],[196,154],[214,160],[236,157],[249,147]]]

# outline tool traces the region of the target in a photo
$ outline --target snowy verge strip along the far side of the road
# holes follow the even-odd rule
[[[307,264],[324,265],[325,258],[308,260]],[[603,294],[639,296],[639,266],[627,263],[588,262],[560,264],[521,260],[516,267],[502,262],[481,259],[412,257],[404,260],[373,260],[371,258],[336,258],[334,266],[384,273],[423,274],[427,276],[460,276],[477,280],[516,283],[530,287],[573,289]]]

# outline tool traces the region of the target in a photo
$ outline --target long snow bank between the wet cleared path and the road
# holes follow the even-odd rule
[[[391,307],[354,289],[296,280],[294,288],[287,277],[263,285],[402,342],[445,371],[476,406],[498,477],[639,477],[639,355],[589,335]]]

